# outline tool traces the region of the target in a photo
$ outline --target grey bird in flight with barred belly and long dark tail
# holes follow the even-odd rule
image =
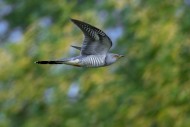
[[[105,67],[109,66],[124,55],[110,52],[111,39],[100,29],[77,19],[70,20],[83,32],[84,40],[82,46],[71,47],[80,50],[80,55],[58,60],[36,61],[36,64],[66,64],[76,67]]]

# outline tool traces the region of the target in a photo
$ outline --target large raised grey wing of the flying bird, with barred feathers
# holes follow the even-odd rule
[[[105,55],[109,51],[112,42],[102,30],[79,20],[71,21],[84,33],[81,55]]]

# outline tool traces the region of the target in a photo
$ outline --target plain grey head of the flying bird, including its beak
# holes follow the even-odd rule
[[[119,54],[113,54],[109,53],[106,56],[106,64],[110,65],[112,63],[115,63],[117,60],[119,60],[121,57],[124,57],[124,55],[119,55]]]

